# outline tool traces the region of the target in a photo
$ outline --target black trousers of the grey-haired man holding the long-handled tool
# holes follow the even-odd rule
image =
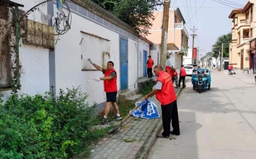
[[[171,121],[173,132],[180,133],[177,100],[167,105],[161,105],[163,120],[163,136],[169,136],[171,131]]]

